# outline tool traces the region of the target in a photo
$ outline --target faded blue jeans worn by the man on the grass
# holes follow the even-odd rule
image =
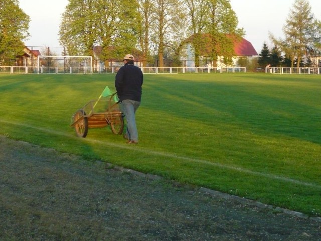
[[[126,127],[126,138],[130,141],[138,142],[138,132],[136,127],[135,113],[140,105],[139,101],[124,99],[121,101],[120,108],[125,114],[127,127]]]

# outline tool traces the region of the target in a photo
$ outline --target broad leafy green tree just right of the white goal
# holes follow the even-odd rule
[[[70,55],[93,56],[101,46],[100,59],[120,58],[136,46],[137,2],[130,0],[69,0],[60,24],[60,43]],[[113,48],[111,48],[111,46]]]

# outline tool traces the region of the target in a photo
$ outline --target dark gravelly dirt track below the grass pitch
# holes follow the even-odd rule
[[[321,223],[0,136],[0,240],[321,240]]]

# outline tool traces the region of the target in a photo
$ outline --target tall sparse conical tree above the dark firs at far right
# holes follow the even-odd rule
[[[284,40],[277,40],[273,35],[270,35],[270,38],[275,45],[281,47],[287,58],[291,59],[291,67],[293,67],[295,59],[297,59],[295,61],[296,67],[299,67],[307,48],[314,44],[316,27],[309,2],[295,0],[286,19],[286,24],[283,26]]]

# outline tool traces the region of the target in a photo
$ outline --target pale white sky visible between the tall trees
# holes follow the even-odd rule
[[[56,47],[59,44],[59,25],[61,14],[65,11],[68,0],[20,0],[20,8],[30,16],[31,37],[25,41],[27,46]],[[283,38],[282,27],[288,18],[294,0],[230,0],[232,9],[239,21],[239,28],[244,28],[245,39],[250,41],[260,53],[264,42],[273,47],[269,33],[276,38]],[[308,1],[314,17],[321,20],[321,1]]]

